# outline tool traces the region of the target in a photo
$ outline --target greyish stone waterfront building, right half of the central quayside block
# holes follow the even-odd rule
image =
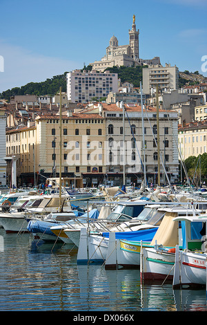
[[[108,178],[116,184],[123,177],[126,165],[126,184],[140,184],[144,176],[144,153],[146,158],[146,177],[148,183],[157,182],[157,111],[148,107],[144,110],[144,130],[142,128],[141,106],[125,104],[124,142],[123,109],[118,104],[103,104],[106,118],[106,142],[109,163],[106,165]],[[144,131],[144,145],[143,145]],[[155,139],[153,137],[155,136]],[[172,183],[177,181],[178,156],[175,138],[177,138],[177,112],[159,110],[160,152],[166,171]],[[156,141],[155,141],[156,140]],[[125,150],[124,150],[125,148]],[[126,155],[124,157],[124,154]],[[161,162],[160,162],[161,164]],[[166,181],[161,165],[161,183]]]

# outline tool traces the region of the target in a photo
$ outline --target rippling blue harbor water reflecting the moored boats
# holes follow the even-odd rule
[[[1,311],[207,311],[206,290],[143,286],[139,270],[77,266],[77,248],[0,229]]]

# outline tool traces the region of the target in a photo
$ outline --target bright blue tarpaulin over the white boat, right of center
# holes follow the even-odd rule
[[[116,232],[116,239],[126,239],[128,241],[152,241],[158,228],[137,230],[132,232]],[[102,235],[109,237],[109,232],[103,232]]]

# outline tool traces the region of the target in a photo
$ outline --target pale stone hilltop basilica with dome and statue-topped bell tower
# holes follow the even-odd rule
[[[129,33],[129,45],[119,45],[118,39],[113,35],[110,38],[109,46],[106,48],[106,55],[100,61],[90,63],[93,70],[105,71],[111,66],[142,66],[144,64],[160,64],[159,57],[153,59],[139,58],[139,29],[135,24],[135,15],[133,15],[132,29]]]

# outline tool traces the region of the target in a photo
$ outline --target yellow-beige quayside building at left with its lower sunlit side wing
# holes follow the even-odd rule
[[[99,114],[67,112],[62,115],[61,174],[66,186],[97,185],[106,173],[104,141],[105,119]],[[6,154],[17,160],[17,184],[34,185],[47,177],[59,177],[60,118],[44,114],[35,119],[34,126],[6,132]],[[45,178],[39,176],[43,174]],[[11,165],[8,163],[10,182]]]

